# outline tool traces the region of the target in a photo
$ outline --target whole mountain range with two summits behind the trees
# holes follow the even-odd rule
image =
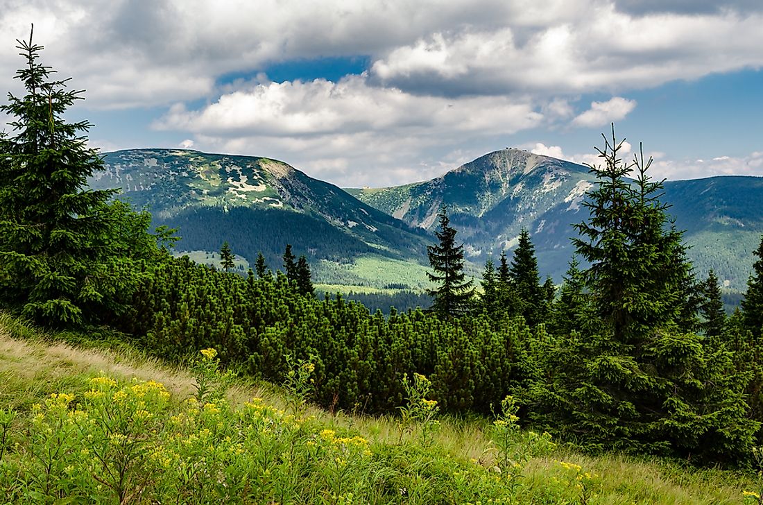
[[[571,224],[588,216],[588,167],[525,150],[488,153],[429,181],[392,188],[349,188],[313,179],[285,162],[192,150],[105,154],[94,188],[121,188],[156,224],[179,229],[179,249],[211,258],[227,240],[253,262],[262,251],[280,266],[286,243],[330,286],[423,288],[426,246],[447,204],[477,273],[485,260],[530,231],[542,275],[559,281],[573,249]],[[691,247],[697,274],[716,270],[742,291],[763,233],[763,178],[723,176],[665,182],[662,201]]]

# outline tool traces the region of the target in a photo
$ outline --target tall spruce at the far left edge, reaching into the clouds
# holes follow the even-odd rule
[[[25,95],[0,105],[11,117],[0,138],[0,303],[46,326],[108,320],[137,285],[132,259],[156,253],[150,221],[110,204],[115,191],[87,189],[103,162],[82,136],[89,122],[64,119],[81,92],[51,79],[32,34],[17,42]]]

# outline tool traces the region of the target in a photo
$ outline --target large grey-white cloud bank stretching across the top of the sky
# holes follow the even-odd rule
[[[638,8],[648,4],[666,7]],[[14,38],[34,21],[37,41],[89,89],[91,107],[208,99],[227,76],[271,62],[357,55],[369,56],[372,82],[417,95],[614,93],[763,66],[759,5],[114,0],[105,9],[96,0],[5,0],[0,75],[18,66]]]

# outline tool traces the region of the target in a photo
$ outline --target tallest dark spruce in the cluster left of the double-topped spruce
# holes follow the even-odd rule
[[[538,259],[535,246],[530,240],[530,233],[523,228],[519,244],[514,249],[514,256],[509,269],[511,284],[519,298],[520,314],[530,326],[535,326],[545,318],[546,304],[544,291],[540,285]]]

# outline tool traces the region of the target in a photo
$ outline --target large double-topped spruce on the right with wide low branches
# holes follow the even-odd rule
[[[530,418],[596,448],[735,458],[758,426],[745,417],[746,378],[723,346],[681,330],[691,275],[681,233],[668,227],[662,182],[646,175],[651,159],[623,163],[622,146],[613,130],[598,150],[605,163],[591,167],[597,187],[575,239],[601,324],[556,340],[546,380],[525,394]]]

